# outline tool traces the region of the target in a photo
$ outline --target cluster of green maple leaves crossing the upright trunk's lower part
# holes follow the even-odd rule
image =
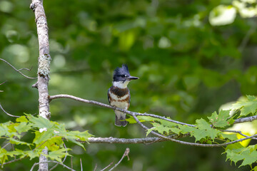
[[[11,121],[1,123],[0,133],[0,139],[5,139],[6,143],[19,145],[18,147],[15,146],[15,150],[12,151],[7,151],[4,147],[0,149],[1,167],[4,166],[4,162],[8,162],[14,157],[16,160],[24,157],[29,157],[32,160],[39,155],[45,155],[42,152],[45,147],[49,150],[46,157],[62,162],[61,158],[68,156],[68,151],[71,150],[65,147],[64,140],[69,140],[84,148],[84,145],[76,140],[86,141],[91,137],[88,131],[69,131],[65,129],[64,124],[27,114],[17,118],[15,123]],[[24,136],[30,133],[35,135],[33,142],[25,142]],[[86,149],[84,148],[84,150]]]

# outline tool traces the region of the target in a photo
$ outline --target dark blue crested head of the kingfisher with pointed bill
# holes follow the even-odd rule
[[[123,64],[121,68],[117,67],[114,71],[114,86],[119,88],[126,88],[129,81],[137,80],[138,77],[131,76],[129,68],[126,64]]]

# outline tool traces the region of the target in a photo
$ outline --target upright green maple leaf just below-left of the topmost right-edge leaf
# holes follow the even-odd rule
[[[211,117],[207,118],[215,128],[224,128],[233,123],[233,118],[229,117],[229,110],[221,110],[218,115],[214,112],[211,114]]]

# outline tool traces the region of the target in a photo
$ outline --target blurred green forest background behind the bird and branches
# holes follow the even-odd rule
[[[34,13],[29,0],[0,1],[0,58],[36,76],[39,56]],[[112,72],[127,63],[138,81],[129,84],[130,110],[194,123],[241,95],[256,95],[256,19],[236,16],[233,24],[211,26],[210,11],[231,1],[77,0],[44,1],[49,26],[49,94],[66,93],[108,103]],[[0,61],[0,103],[13,115],[38,113],[38,92],[29,80]],[[143,138],[135,124],[114,126],[114,111],[73,100],[53,100],[51,120],[96,137]],[[0,112],[1,123],[14,120]],[[34,135],[26,135],[32,140]],[[185,139],[187,140],[187,139]],[[100,170],[126,158],[116,170],[250,170],[221,155],[223,148],[158,142],[150,145],[90,144],[71,147],[73,166]],[[25,159],[0,170],[29,170]],[[66,165],[71,166],[68,157]],[[64,170],[58,166],[55,170]]]

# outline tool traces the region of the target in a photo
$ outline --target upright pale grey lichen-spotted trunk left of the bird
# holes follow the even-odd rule
[[[46,14],[44,11],[43,0],[32,0],[30,8],[35,13],[36,30],[39,39],[39,65],[38,65],[38,80],[37,88],[39,90],[39,116],[49,119],[49,73],[51,56],[49,53],[49,34],[46,21]],[[47,155],[47,148],[42,151]],[[39,170],[47,171],[48,162],[44,155],[39,157]]]

